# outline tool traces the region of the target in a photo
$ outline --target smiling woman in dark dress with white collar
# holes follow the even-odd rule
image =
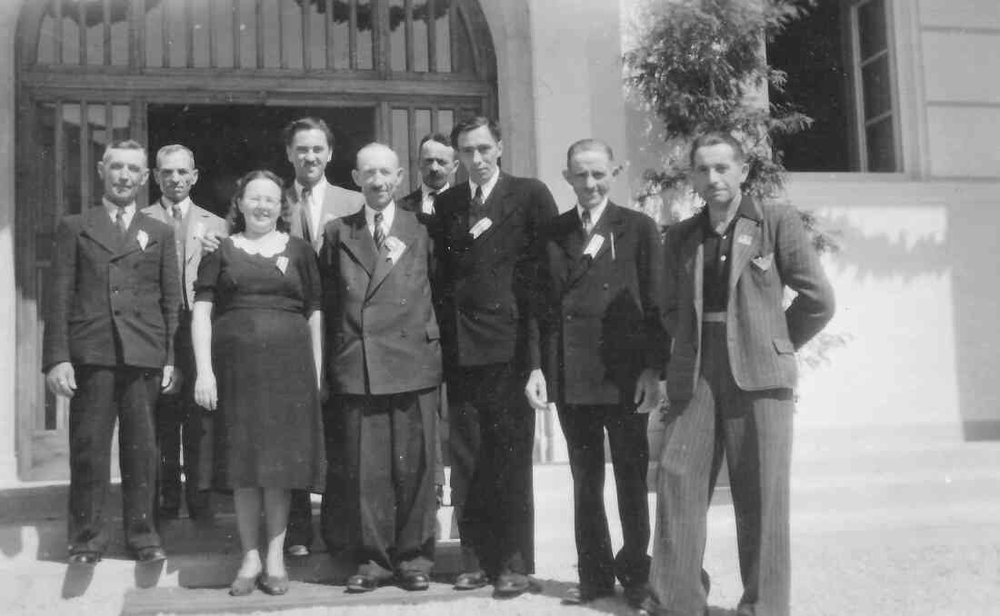
[[[233,595],[288,590],[290,490],[323,489],[319,272],[309,244],[287,233],[282,194],[270,171],[237,182],[231,235],[195,285],[195,400],[218,409],[213,484],[233,490],[243,548]]]

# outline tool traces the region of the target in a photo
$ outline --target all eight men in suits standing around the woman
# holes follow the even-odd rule
[[[794,352],[831,318],[833,295],[794,211],[743,194],[739,141],[695,141],[691,178],[706,207],[671,227],[665,243],[650,218],[608,199],[620,167],[598,140],[567,152],[576,203],[561,215],[545,184],[501,170],[501,131],[487,118],[424,138],[422,184],[398,203],[404,172],[389,147],[358,152],[355,192],[326,180],[334,141],[321,120],[290,123],[284,144],[295,169],[291,233],[313,245],[323,276],[333,395],[321,526],[331,552],[357,567],[348,590],[390,580],[427,588],[446,440],[463,548],[456,589],[528,591],[533,408],[554,403],[579,557],[567,603],[610,596],[617,580],[640,613],[703,612],[705,518],[725,454],[740,609],[788,613]],[[451,185],[459,161],[468,181]],[[57,233],[44,369],[50,389],[72,397],[71,562],[96,562],[107,545],[116,419],[126,541],[139,560],[165,557],[157,477],[159,515],[179,508],[176,456],[165,455],[160,472],[155,452],[184,443],[187,508],[192,517],[211,511],[197,479],[207,425],[183,386],[193,380],[185,328],[198,260],[225,227],[190,201],[190,150],[167,146],[156,162],[163,196],[137,212],[145,152],[110,145],[98,166],[102,203],[65,217]],[[786,287],[797,294],[787,308]],[[650,559],[646,425],[660,408]],[[624,534],[617,554],[603,505],[605,432]],[[308,554],[312,533],[310,495],[294,494],[286,552]]]

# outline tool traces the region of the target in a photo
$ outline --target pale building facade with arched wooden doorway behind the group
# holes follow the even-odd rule
[[[621,89],[637,3],[0,0],[0,484],[68,472],[66,404],[39,365],[49,244],[59,215],[95,202],[109,139],[191,146],[195,199],[219,210],[242,172],[290,176],[292,117],[331,124],[346,185],[365,141],[391,143],[412,180],[421,134],[486,113],[504,167],[563,209],[566,147],[605,139],[629,161],[612,194],[627,203],[658,160]],[[848,341],[805,375],[797,429],[1000,436],[1000,6],[844,0],[836,18],[843,162],[797,170],[789,196],[842,234],[828,331]]]

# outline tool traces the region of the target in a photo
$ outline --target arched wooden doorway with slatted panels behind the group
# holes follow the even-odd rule
[[[496,114],[496,57],[475,0],[39,0],[25,3],[17,36],[22,479],[67,475],[67,404],[39,371],[46,276],[59,217],[100,197],[108,141],[192,146],[195,197],[221,209],[234,175],[290,175],[278,135],[293,117],[334,128],[328,175],[345,183],[365,141],[390,143],[415,178],[423,133]]]

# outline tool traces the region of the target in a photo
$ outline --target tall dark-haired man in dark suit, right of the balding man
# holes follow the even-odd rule
[[[436,203],[450,423],[453,435],[478,432],[481,441],[459,518],[466,562],[455,587],[492,582],[497,594],[513,596],[528,590],[534,572],[535,413],[523,395],[528,305],[538,235],[557,210],[545,184],[500,171],[495,122],[459,122],[451,140],[469,182]]]

